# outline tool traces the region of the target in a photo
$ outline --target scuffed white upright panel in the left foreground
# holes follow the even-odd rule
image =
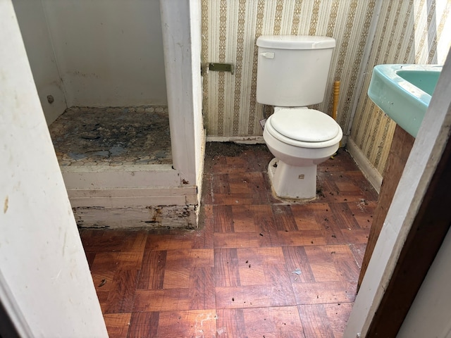
[[[107,337],[11,0],[0,45],[0,302],[20,337]]]

